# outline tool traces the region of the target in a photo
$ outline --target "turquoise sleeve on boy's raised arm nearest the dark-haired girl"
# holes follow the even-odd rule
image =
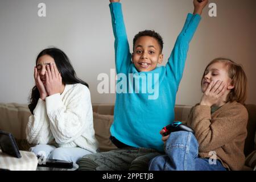
[[[131,64],[131,53],[123,21],[121,3],[110,3],[112,27],[114,33],[115,69],[117,73],[126,73]]]

